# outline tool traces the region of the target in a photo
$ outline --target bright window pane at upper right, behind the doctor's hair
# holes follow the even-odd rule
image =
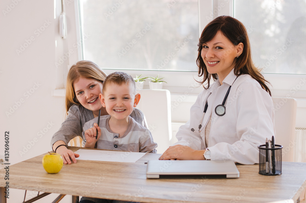
[[[252,56],[265,73],[306,74],[306,1],[235,0]]]

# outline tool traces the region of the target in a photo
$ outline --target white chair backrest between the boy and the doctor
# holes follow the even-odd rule
[[[157,153],[162,154],[171,145],[171,98],[166,89],[141,89],[140,109],[147,120],[154,142],[158,144]]]

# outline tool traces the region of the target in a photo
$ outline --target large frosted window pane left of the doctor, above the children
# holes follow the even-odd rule
[[[197,71],[197,0],[80,2],[85,60],[110,69]]]

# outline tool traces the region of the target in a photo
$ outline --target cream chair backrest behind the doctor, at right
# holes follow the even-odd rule
[[[275,144],[282,145],[282,161],[293,161],[297,100],[272,97],[274,105]]]

